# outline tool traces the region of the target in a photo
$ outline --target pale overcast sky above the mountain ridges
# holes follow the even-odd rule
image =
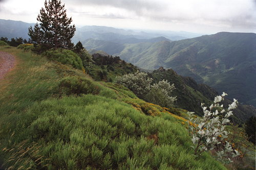
[[[47,0],[49,1],[49,0]],[[0,19],[36,23],[45,0],[0,0]],[[61,0],[76,27],[256,33],[256,1]]]

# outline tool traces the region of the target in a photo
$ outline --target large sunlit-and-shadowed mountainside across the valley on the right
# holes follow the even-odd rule
[[[107,46],[110,47],[110,43]],[[108,54],[145,69],[172,68],[179,75],[227,92],[230,99],[256,106],[254,33],[221,32],[172,42],[117,46],[108,48]],[[95,45],[94,48],[106,49],[105,45]]]

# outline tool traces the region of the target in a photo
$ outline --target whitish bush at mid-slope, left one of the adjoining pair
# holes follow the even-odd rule
[[[143,99],[145,94],[150,91],[150,84],[153,81],[153,79],[146,77],[145,72],[139,72],[138,70],[135,74],[117,76],[115,83],[129,88],[138,98]]]

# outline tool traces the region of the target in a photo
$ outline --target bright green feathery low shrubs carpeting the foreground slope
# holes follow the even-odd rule
[[[146,116],[128,104],[102,96],[48,99],[34,103],[16,118],[9,126],[10,135],[6,135],[9,141],[2,142],[7,152],[1,148],[1,158],[8,156],[13,146],[17,151],[24,141],[35,143],[39,151],[23,158],[33,160],[37,169],[225,169],[210,155],[199,160],[193,157],[191,141],[181,124]],[[6,122],[7,117],[0,121]],[[24,165],[7,160],[3,167]]]

